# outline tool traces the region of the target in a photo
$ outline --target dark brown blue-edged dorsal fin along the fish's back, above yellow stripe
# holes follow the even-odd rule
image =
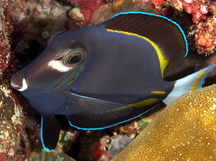
[[[103,23],[106,29],[134,33],[154,42],[167,60],[185,57],[188,44],[182,28],[164,16],[125,12]]]

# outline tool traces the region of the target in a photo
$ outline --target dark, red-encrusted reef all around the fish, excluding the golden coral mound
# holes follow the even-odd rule
[[[142,118],[100,131],[81,131],[63,124],[57,148],[46,153],[39,138],[40,116],[10,87],[11,76],[40,54],[53,28],[69,30],[94,25],[126,11],[167,16],[184,29],[190,53],[187,58],[170,63],[165,73],[167,80],[216,63],[215,0],[1,0],[0,161],[111,160],[160,113],[165,107],[162,103]],[[65,12],[67,19],[61,23],[58,18]],[[216,70],[206,85],[215,82]]]

